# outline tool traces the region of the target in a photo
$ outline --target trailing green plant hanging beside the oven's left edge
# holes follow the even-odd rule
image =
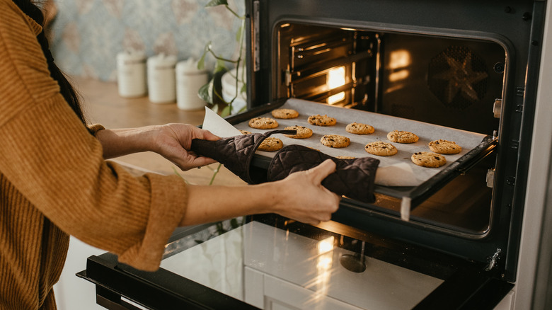
[[[228,1],[226,0],[211,0],[209,3],[205,5],[206,8],[214,7],[214,6],[224,6],[227,10],[229,10],[236,18],[238,18],[241,21],[241,26],[238,28],[236,32],[236,42],[238,43],[238,55],[236,59],[227,59],[224,57],[221,57],[217,52],[214,52],[212,49],[212,42],[208,42],[205,46],[205,49],[203,50],[202,57],[200,58],[199,62],[197,62],[197,68],[198,69],[205,69],[205,57],[207,54],[212,55],[214,59],[216,59],[216,65],[214,67],[213,71],[213,77],[212,79],[202,86],[200,90],[198,91],[198,95],[200,98],[202,98],[207,103],[213,105],[212,110],[219,113],[222,117],[228,116],[231,114],[231,108],[232,103],[236,100],[238,97],[238,94],[245,93],[246,92],[246,79],[244,74],[245,69],[245,62],[243,62],[243,53],[245,52],[245,48],[243,47],[243,43],[245,42],[245,25],[246,25],[246,17],[239,15],[236,13],[235,10],[230,8]],[[231,64],[236,69],[236,76],[234,76],[234,79],[236,81],[236,92],[234,95],[234,98],[231,98],[230,101],[224,100],[223,96],[217,89],[214,88],[214,79],[215,76],[217,76],[217,73],[222,71],[228,71],[229,67],[227,67],[228,64]],[[242,87],[239,85],[243,84]],[[240,89],[238,89],[240,88]],[[214,101],[213,96],[216,96],[219,101],[224,103],[226,105],[222,110],[220,110],[217,103]]]

